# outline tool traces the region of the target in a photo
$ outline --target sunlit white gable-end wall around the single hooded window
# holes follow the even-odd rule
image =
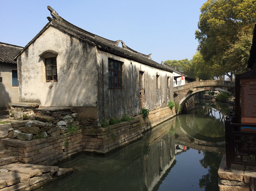
[[[46,82],[45,51],[57,55],[57,82]],[[95,47],[50,26],[17,59],[20,101],[97,107]],[[95,75],[94,75],[95,74]]]

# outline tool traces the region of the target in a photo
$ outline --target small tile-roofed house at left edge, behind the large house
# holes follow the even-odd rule
[[[0,42],[0,110],[10,109],[10,102],[19,101],[17,63],[13,58],[22,49]]]

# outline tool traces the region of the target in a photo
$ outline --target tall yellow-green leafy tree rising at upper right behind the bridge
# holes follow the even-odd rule
[[[227,51],[242,40],[240,35],[252,34],[256,21],[256,0],[207,0],[200,10],[199,30],[195,31],[195,38],[199,41],[198,50],[212,67],[215,76],[227,74],[232,78],[229,73],[237,70],[226,65],[228,57],[225,59],[223,56],[227,56]]]

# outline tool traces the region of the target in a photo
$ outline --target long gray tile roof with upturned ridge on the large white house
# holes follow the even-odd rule
[[[169,72],[173,72],[171,68],[167,68],[162,66],[161,64],[158,64],[157,62],[151,60],[150,55],[144,55],[142,53],[139,53],[137,51],[132,50],[131,48],[127,47],[125,43],[121,40],[117,41],[112,41],[108,39],[104,39],[98,35],[94,35],[93,33],[90,33],[88,31],[85,31],[65,19],[61,18],[57,12],[53,10],[50,6],[48,6],[49,11],[51,12],[51,17],[47,17],[47,19],[50,21],[45,25],[45,27],[24,47],[23,51],[24,52],[27,47],[30,46],[31,43],[33,43],[49,26],[54,26],[57,27],[71,35],[76,36],[79,39],[82,39],[88,43],[91,43],[95,46],[98,47],[99,50],[105,51],[108,53],[111,53],[113,55],[120,56],[122,58],[127,58],[130,59],[131,61],[139,62],[148,66],[152,66],[154,68],[158,68],[160,70],[166,70]],[[122,43],[122,47],[118,47],[119,43]],[[20,54],[22,54],[20,52]],[[19,55],[20,55],[19,54]],[[16,58],[19,56],[17,55]],[[15,58],[15,59],[16,59]]]

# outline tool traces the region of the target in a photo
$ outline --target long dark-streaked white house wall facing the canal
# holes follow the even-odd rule
[[[108,87],[108,58],[123,62],[122,89]],[[126,58],[97,50],[97,87],[98,87],[98,117],[122,117],[123,114],[138,115],[141,112],[139,93],[139,71],[143,71],[142,81],[145,89],[145,108],[154,110],[165,107],[173,100],[172,73],[143,65]],[[156,75],[158,90],[156,88]],[[167,77],[170,88],[167,89]]]

